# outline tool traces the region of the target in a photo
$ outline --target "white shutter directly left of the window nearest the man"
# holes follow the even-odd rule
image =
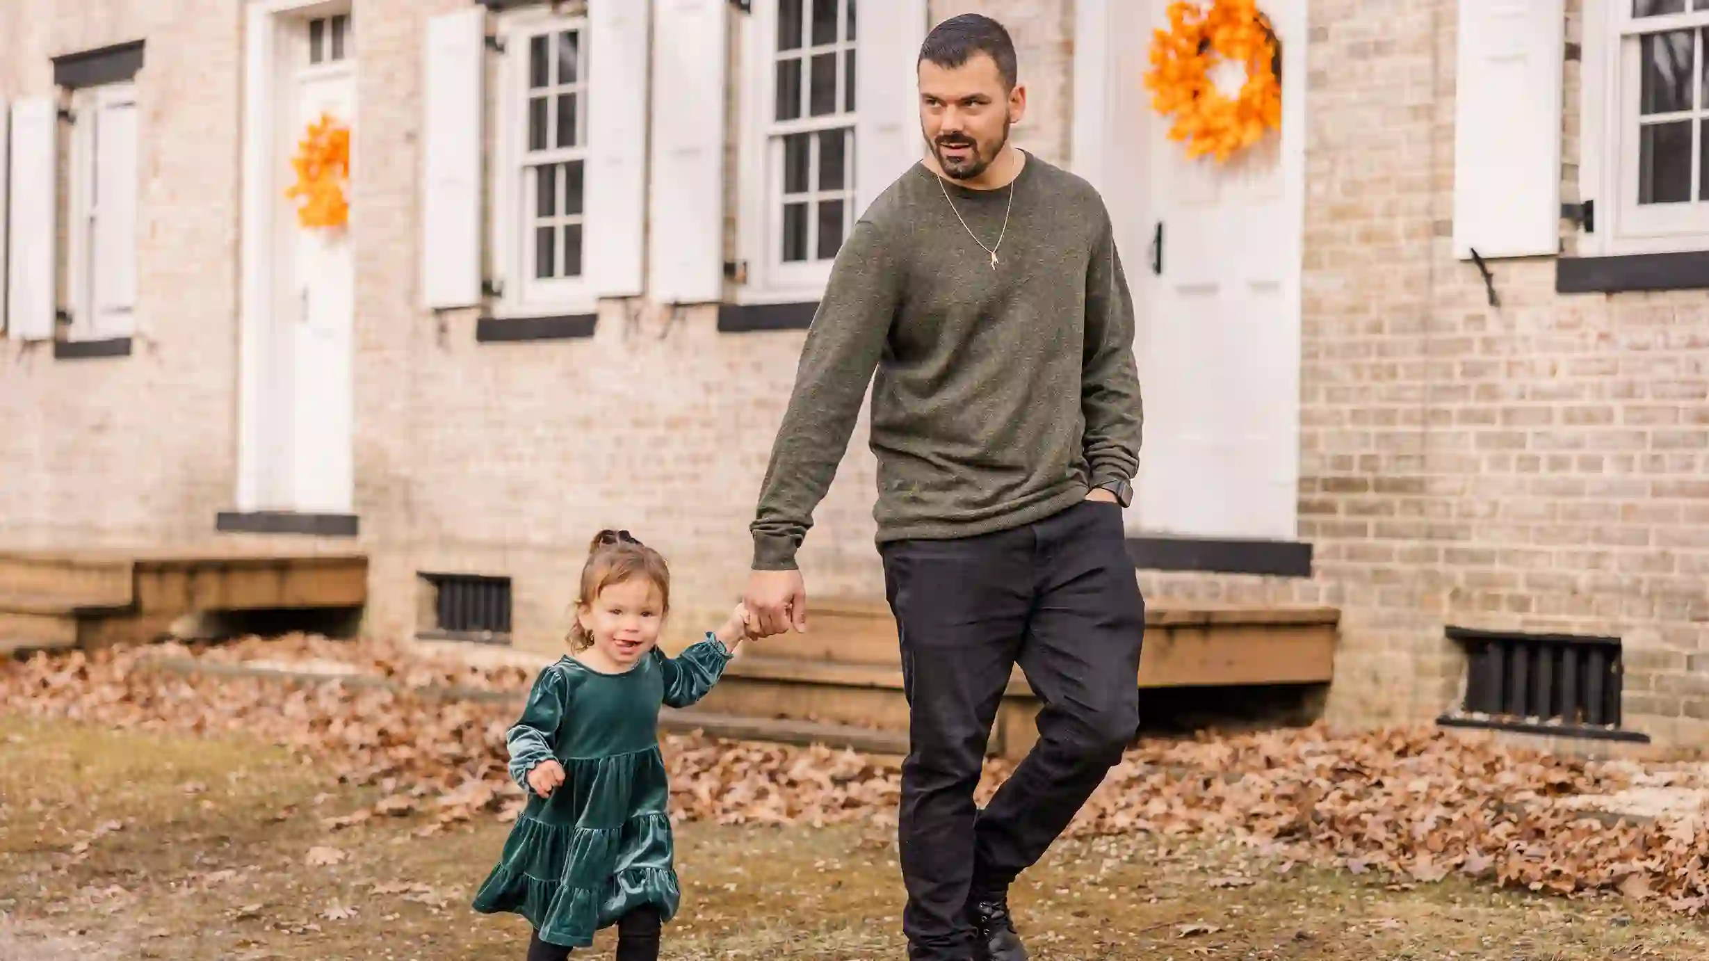
[[[726,7],[728,0],[658,0],[653,89],[663,96],[653,97],[648,284],[660,303],[723,294]]]

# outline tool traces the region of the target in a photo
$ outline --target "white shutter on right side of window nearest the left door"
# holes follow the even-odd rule
[[[602,298],[643,292],[648,14],[648,3],[636,0],[588,3],[591,67],[584,250],[588,280]]]

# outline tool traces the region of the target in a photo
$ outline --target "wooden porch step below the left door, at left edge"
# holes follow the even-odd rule
[[[144,643],[186,616],[354,610],[367,557],[219,544],[0,551],[0,655]]]

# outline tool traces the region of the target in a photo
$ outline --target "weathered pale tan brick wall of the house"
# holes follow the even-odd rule
[[[583,544],[622,525],[672,559],[680,638],[745,576],[802,333],[614,301],[590,340],[477,344],[475,311],[417,310],[419,46],[429,15],[461,5],[357,2],[369,629],[415,626],[419,569],[506,573],[520,643],[554,650]],[[234,489],[241,21],[222,0],[60,7],[0,0],[0,92],[46,92],[51,55],[147,38],[140,335],[120,361],[0,342],[0,542],[205,539]],[[1020,46],[1017,142],[1066,162],[1073,5],[931,3],[967,9]],[[1309,97],[1299,508],[1316,575],[1145,573],[1148,597],[1340,607],[1331,715],[1354,722],[1454,699],[1444,624],[1618,634],[1629,725],[1700,739],[1709,304],[1562,298],[1553,260],[1531,258],[1494,263],[1504,306],[1489,308],[1449,251],[1454,3],[1316,0],[1311,22],[1294,87]],[[1571,198],[1577,63],[1565,84]],[[730,169],[733,192],[733,154]],[[803,551],[817,597],[878,593],[872,491],[861,426]]]

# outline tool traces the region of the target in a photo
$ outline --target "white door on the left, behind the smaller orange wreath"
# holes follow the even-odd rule
[[[313,65],[296,82],[296,137],[321,115],[342,123],[355,120],[355,75],[349,60]],[[284,139],[296,150],[296,137]],[[291,352],[291,373],[282,393],[291,409],[287,465],[292,510],[349,513],[352,501],[352,349],[354,272],[347,227],[296,226],[291,280],[284,287],[294,310],[275,315],[289,333],[280,345]]]

